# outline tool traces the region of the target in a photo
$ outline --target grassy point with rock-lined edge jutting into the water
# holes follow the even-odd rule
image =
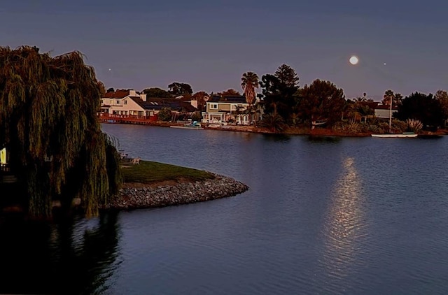
[[[121,171],[123,186],[105,206],[99,206],[100,210],[177,206],[235,196],[249,189],[244,183],[225,175],[155,161],[141,160],[139,164],[132,164],[130,159],[124,159]],[[8,189],[6,186],[0,183],[0,189]],[[0,215],[26,214],[25,206],[18,203],[13,194],[8,199],[2,200]],[[83,212],[80,199],[73,199],[72,206]],[[59,210],[60,201],[53,201],[52,207]]]

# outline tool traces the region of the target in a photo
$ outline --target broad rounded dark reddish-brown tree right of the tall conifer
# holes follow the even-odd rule
[[[344,91],[330,81],[314,80],[297,92],[298,109],[304,120],[336,122],[345,105]]]

